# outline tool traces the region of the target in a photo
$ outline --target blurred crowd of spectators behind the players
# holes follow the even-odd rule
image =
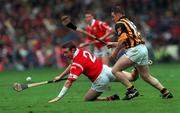
[[[84,36],[62,26],[67,14],[84,27],[84,10],[114,27],[111,8],[121,5],[137,25],[156,62],[180,61],[180,0],[0,0],[0,72],[64,67],[60,45]]]

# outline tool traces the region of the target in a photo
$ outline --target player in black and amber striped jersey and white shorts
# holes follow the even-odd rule
[[[148,67],[148,50],[140,38],[140,33],[132,21],[125,17],[125,12],[120,6],[112,8],[112,20],[115,22],[115,30],[118,34],[118,42],[109,42],[108,47],[116,47],[110,58],[113,59],[121,50],[125,54],[118,59],[112,69],[112,73],[126,86],[127,92],[124,100],[130,100],[139,95],[129,80],[124,76],[123,69],[136,65],[136,68],[144,81],[158,89],[162,98],[173,98],[173,95],[156,78],[151,76]]]

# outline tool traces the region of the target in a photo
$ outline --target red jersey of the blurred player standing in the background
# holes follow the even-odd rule
[[[108,24],[106,22],[102,22],[99,20],[93,20],[91,26],[88,25],[86,27],[86,31],[93,34],[94,36],[96,36],[97,38],[101,38],[106,34],[106,31],[112,31],[112,28],[110,26],[108,26]],[[91,37],[87,36],[86,39],[88,41],[93,40]],[[109,42],[110,39],[105,39],[105,42]],[[101,43],[95,43],[95,46],[97,48],[101,48],[103,46],[105,46],[104,44]]]

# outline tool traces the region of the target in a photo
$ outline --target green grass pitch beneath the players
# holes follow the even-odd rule
[[[50,99],[58,95],[64,82],[22,92],[15,92],[12,84],[26,83],[27,76],[32,77],[32,82],[49,80],[62,72],[62,69],[5,71],[0,73],[0,113],[180,113],[180,64],[154,64],[150,70],[174,94],[173,99],[161,99],[160,93],[140,78],[134,84],[143,96],[130,101],[83,102],[91,83],[82,75],[62,100],[48,104]],[[114,93],[124,96],[125,87],[118,82],[111,83],[111,90],[102,96]]]

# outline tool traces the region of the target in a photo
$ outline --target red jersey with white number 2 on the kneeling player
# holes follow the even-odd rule
[[[70,68],[68,80],[76,80],[82,73],[92,82],[97,79],[102,71],[102,61],[83,49],[76,49]]]

